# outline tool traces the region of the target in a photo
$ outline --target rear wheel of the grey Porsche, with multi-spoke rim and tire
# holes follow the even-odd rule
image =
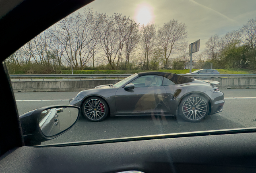
[[[189,122],[199,122],[204,119],[208,113],[208,99],[197,94],[184,97],[178,109],[178,115]]]

